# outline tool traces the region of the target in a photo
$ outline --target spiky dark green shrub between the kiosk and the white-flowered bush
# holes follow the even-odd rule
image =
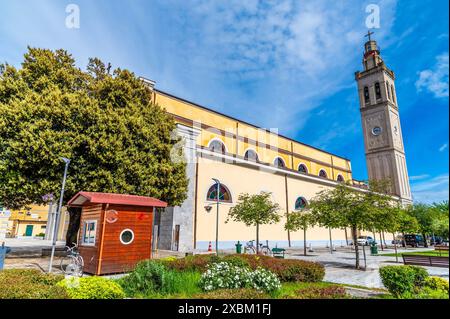
[[[118,280],[128,296],[158,297],[170,294],[191,294],[200,291],[200,273],[169,269],[165,263],[146,260],[138,263],[127,276]]]

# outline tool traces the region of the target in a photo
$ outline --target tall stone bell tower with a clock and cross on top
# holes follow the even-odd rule
[[[369,179],[390,179],[391,192],[403,204],[412,202],[406,168],[395,75],[386,67],[377,42],[366,35],[363,71],[355,73]]]

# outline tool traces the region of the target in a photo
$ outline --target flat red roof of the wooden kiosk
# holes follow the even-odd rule
[[[68,206],[83,206],[85,204],[117,204],[144,207],[167,207],[166,202],[153,197],[97,192],[79,192],[67,203]]]

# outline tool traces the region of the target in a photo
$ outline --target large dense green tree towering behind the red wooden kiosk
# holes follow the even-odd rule
[[[186,196],[185,164],[171,161],[173,119],[132,72],[99,59],[86,71],[64,50],[28,48],[21,68],[0,66],[0,202],[10,208],[78,191],[149,195],[170,205]],[[67,242],[80,210],[69,208]]]

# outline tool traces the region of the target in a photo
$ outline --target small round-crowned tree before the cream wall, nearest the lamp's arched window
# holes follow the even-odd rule
[[[256,226],[256,253],[259,253],[259,225],[274,224],[280,221],[277,203],[272,202],[271,193],[239,195],[238,203],[230,209],[226,223],[230,219],[243,222],[247,226]]]

